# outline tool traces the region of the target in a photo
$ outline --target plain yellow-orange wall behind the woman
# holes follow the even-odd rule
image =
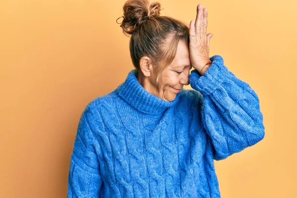
[[[1,198],[66,197],[83,109],[134,68],[116,23],[124,2],[0,0]],[[222,198],[296,198],[297,1],[158,2],[188,24],[207,7],[210,56],[260,99],[265,138],[215,161]]]

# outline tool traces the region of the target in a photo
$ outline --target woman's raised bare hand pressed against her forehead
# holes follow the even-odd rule
[[[202,9],[202,4],[197,6],[196,20],[190,22],[190,60],[193,68],[198,70],[200,74],[204,75],[204,72],[210,66],[206,65],[210,62],[209,58],[209,41],[213,36],[212,33],[206,35],[207,31],[207,9]],[[204,67],[205,66],[205,67]],[[203,70],[202,70],[203,68]],[[202,71],[201,71],[202,70]]]

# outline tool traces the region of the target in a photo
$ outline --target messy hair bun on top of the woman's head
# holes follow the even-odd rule
[[[131,35],[148,19],[160,16],[160,10],[161,5],[158,2],[149,3],[149,0],[127,0],[123,6],[124,15],[121,16],[123,21],[120,27],[124,33]]]

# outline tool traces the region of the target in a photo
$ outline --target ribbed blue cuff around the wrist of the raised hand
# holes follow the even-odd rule
[[[207,96],[216,90],[229,75],[222,56],[214,55],[210,57],[210,60],[212,64],[203,76],[196,69],[189,76],[191,87],[199,91],[203,96]]]

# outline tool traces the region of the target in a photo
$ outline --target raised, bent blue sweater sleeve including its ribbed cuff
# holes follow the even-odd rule
[[[193,70],[189,80],[200,92],[200,116],[211,139],[213,158],[221,160],[264,138],[263,115],[250,86],[227,69],[220,55],[210,60],[204,76]]]

